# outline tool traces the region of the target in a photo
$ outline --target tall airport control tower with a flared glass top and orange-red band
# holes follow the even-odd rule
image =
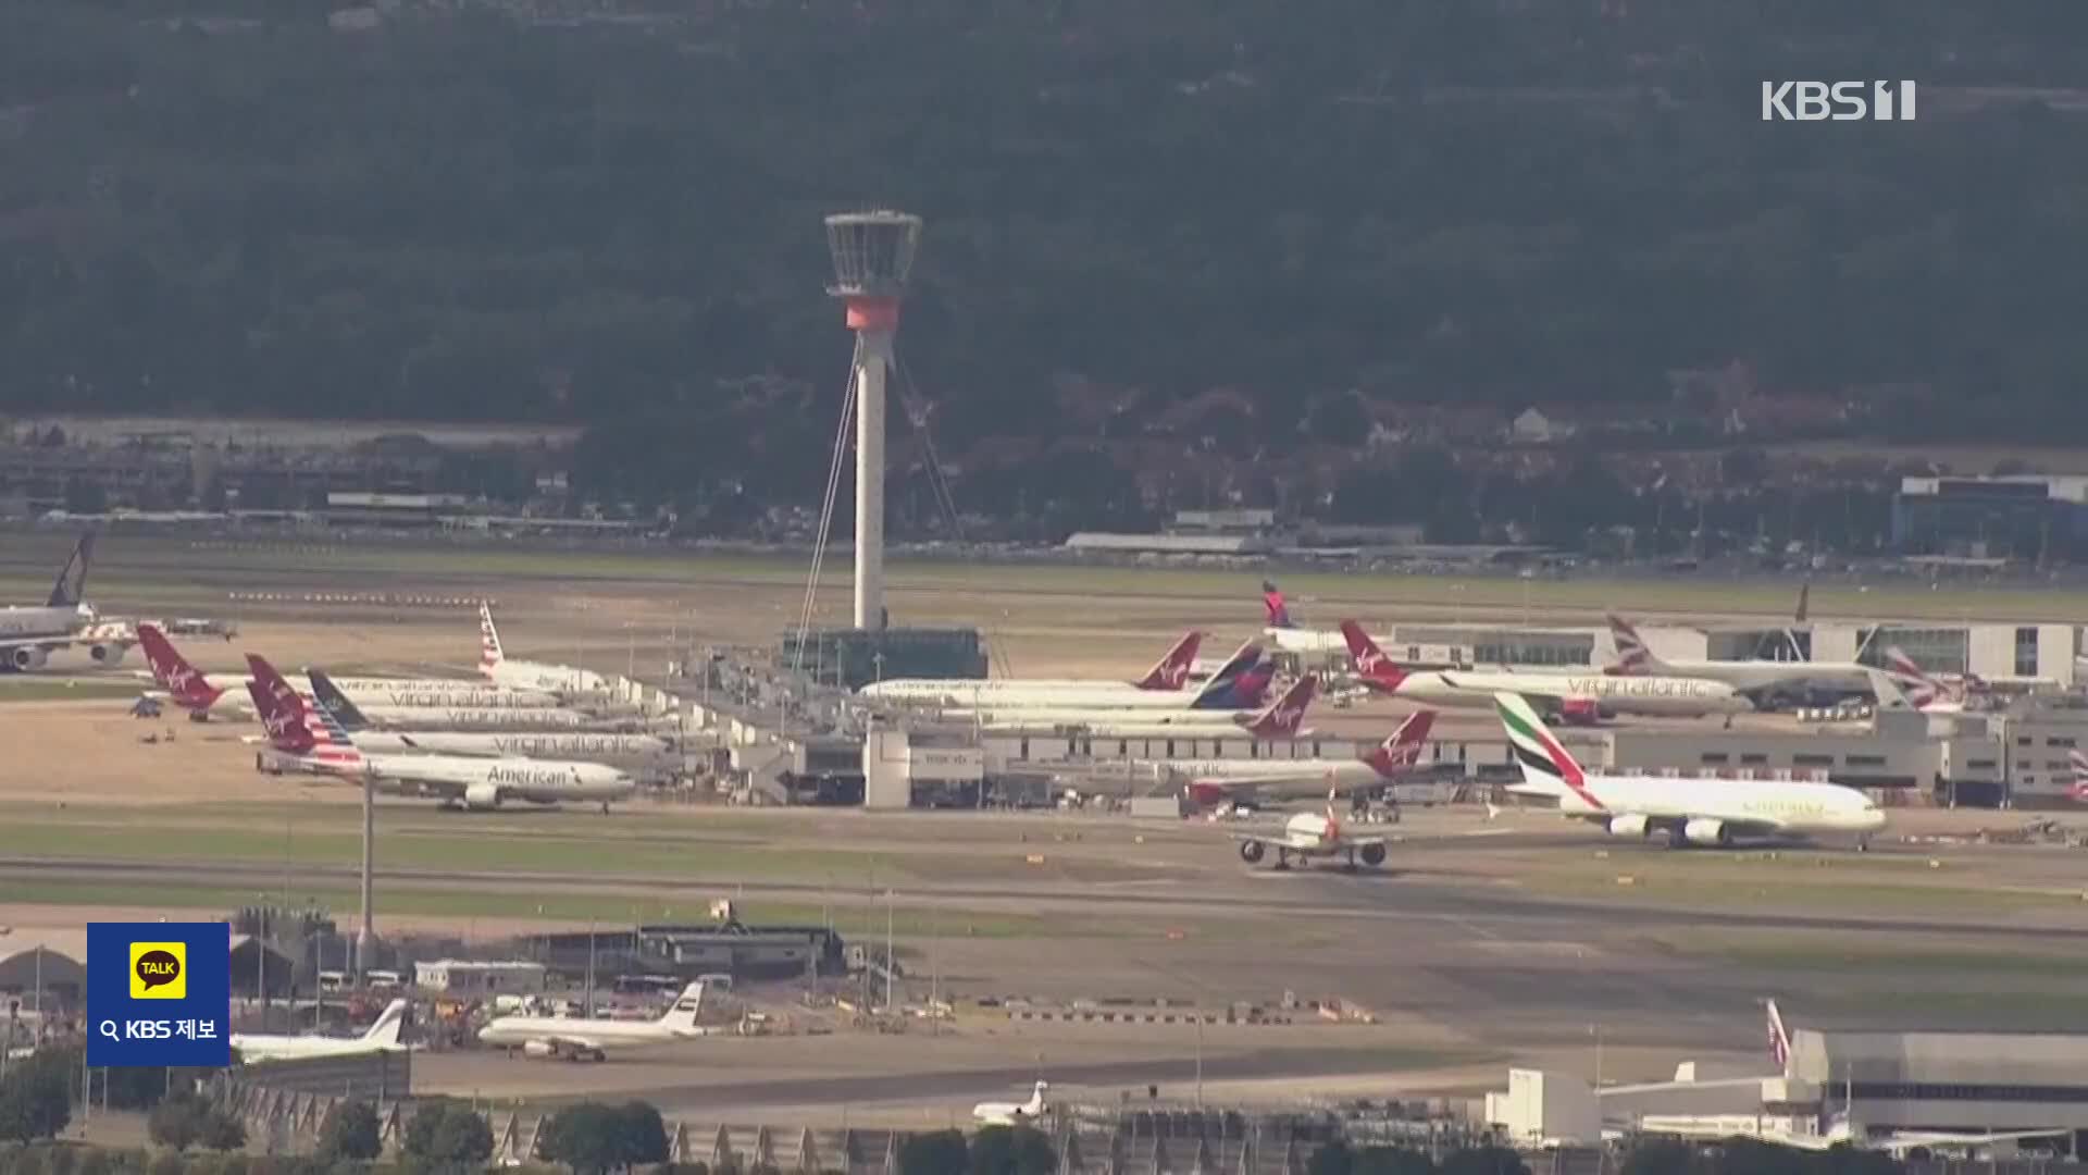
[[[827,217],[833,284],[856,332],[856,627],[885,627],[885,372],[921,217],[852,211]]]

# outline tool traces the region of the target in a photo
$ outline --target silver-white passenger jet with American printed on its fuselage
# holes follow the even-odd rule
[[[332,715],[324,709],[317,715],[307,711],[305,698],[267,661],[248,654],[246,665],[255,677],[246,692],[253,694],[274,751],[313,774],[370,778],[393,794],[434,797],[449,807],[461,805],[474,811],[497,809],[507,801],[599,803],[601,811],[610,811],[610,801],[637,790],[637,780],[628,771],[603,763],[468,755],[363,755],[355,746],[355,738]],[[319,730],[313,730],[313,717],[317,717]],[[269,761],[257,757],[255,767],[265,771]]]

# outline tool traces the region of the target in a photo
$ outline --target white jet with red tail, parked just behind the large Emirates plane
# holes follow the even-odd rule
[[[1541,702],[1560,721],[1589,725],[1606,715],[1704,717],[1752,711],[1754,702],[1727,686],[1702,677],[1631,677],[1610,673],[1407,673],[1370,640],[1361,625],[1343,621],[1340,633],[1355,656],[1363,686],[1411,702],[1441,707],[1485,707],[1493,694],[1522,694]]]

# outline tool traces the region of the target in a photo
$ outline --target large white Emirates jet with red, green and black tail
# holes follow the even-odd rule
[[[1551,797],[1574,820],[1601,824],[1612,836],[1660,836],[1675,849],[1731,847],[1737,840],[1850,832],[1858,847],[1885,826],[1871,797],[1842,784],[1798,780],[1718,780],[1702,776],[1591,776],[1545,730],[1537,709],[1497,694],[1495,711],[1522,767],[1516,794]]]

